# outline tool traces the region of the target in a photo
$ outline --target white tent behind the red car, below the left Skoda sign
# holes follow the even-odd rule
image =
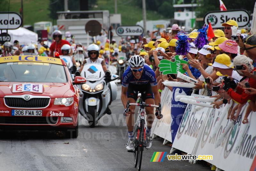
[[[3,33],[6,32],[3,30]],[[8,34],[11,36],[11,43],[14,42],[14,40],[18,40],[20,45],[28,45],[32,42],[32,44],[37,44],[37,33],[32,32],[24,27],[20,27],[18,29],[14,30],[8,30]]]

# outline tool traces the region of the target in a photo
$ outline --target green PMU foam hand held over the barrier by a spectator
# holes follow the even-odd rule
[[[179,58],[179,55],[175,56],[175,62],[170,60],[162,59],[158,67],[160,68],[159,71],[163,72],[163,74],[178,74],[178,71],[181,74],[184,74],[186,70],[182,69],[182,65],[180,64],[188,64],[187,61],[182,60]]]

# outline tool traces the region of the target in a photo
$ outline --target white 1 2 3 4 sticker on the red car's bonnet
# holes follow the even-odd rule
[[[13,93],[21,93],[21,92],[43,93],[43,84],[13,84],[12,92]],[[29,100],[29,98],[25,100]]]

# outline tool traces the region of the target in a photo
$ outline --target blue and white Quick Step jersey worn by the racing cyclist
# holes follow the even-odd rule
[[[147,64],[144,64],[143,66],[143,72],[140,79],[136,79],[133,76],[130,66],[124,71],[123,78],[122,78],[123,87],[128,87],[129,83],[140,85],[140,84],[148,84],[148,82],[150,82],[151,86],[157,85],[155,72]]]

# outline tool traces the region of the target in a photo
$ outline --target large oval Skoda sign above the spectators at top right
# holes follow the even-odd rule
[[[244,27],[250,22],[250,14],[245,10],[212,11],[204,16],[206,24],[211,23],[212,28],[222,28],[222,24],[233,19],[238,27]]]

